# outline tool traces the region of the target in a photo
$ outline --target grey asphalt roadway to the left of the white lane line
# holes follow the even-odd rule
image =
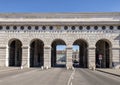
[[[65,68],[32,70],[0,79],[0,85],[67,85],[71,75]]]

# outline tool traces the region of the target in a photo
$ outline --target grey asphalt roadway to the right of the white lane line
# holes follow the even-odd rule
[[[72,85],[120,85],[119,77],[79,68],[75,70],[71,81]]]

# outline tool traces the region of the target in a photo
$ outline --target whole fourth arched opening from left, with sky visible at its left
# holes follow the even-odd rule
[[[88,44],[81,39],[73,43],[72,61],[74,67],[87,68],[88,67]]]

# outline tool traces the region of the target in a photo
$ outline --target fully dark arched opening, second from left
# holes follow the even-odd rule
[[[35,39],[30,44],[30,67],[41,67],[44,61],[44,43]]]

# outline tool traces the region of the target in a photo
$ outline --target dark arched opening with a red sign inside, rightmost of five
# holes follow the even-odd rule
[[[96,68],[110,68],[110,43],[99,40],[96,43]]]

